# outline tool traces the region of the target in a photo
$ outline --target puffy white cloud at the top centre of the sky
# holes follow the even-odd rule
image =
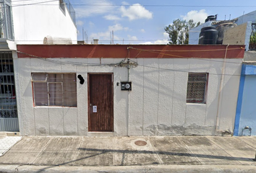
[[[121,17],[128,17],[129,20],[153,18],[153,13],[140,4],[133,4],[127,9],[124,6],[121,6],[120,11]]]

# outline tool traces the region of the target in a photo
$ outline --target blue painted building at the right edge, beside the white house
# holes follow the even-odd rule
[[[245,53],[248,54],[249,52]],[[256,59],[256,53],[250,53]],[[242,65],[234,136],[256,136],[256,61]]]

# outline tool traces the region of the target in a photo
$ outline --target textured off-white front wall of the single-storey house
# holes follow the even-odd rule
[[[38,58],[15,58],[17,103],[22,136],[88,136],[88,73],[114,74],[114,136],[214,135],[234,129],[242,59],[229,59],[221,82],[223,59],[137,58],[129,71],[132,91],[116,83],[128,80],[126,67],[72,66],[80,63],[119,63],[121,58],[54,58],[60,65]],[[31,73],[77,73],[77,107],[33,107]],[[188,72],[208,72],[206,104],[187,104]],[[217,120],[218,115],[218,120]]]

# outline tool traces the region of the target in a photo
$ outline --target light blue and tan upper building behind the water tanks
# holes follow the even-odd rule
[[[198,45],[202,27],[210,26],[221,29],[221,33],[218,34],[223,38],[223,45],[245,45],[245,50],[256,50],[256,38],[253,37],[255,36],[256,11],[231,20],[209,20],[189,30],[189,45]]]

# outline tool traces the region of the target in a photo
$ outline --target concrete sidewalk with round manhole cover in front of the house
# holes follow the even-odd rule
[[[0,157],[0,172],[256,172],[255,151],[256,137],[23,137]]]

